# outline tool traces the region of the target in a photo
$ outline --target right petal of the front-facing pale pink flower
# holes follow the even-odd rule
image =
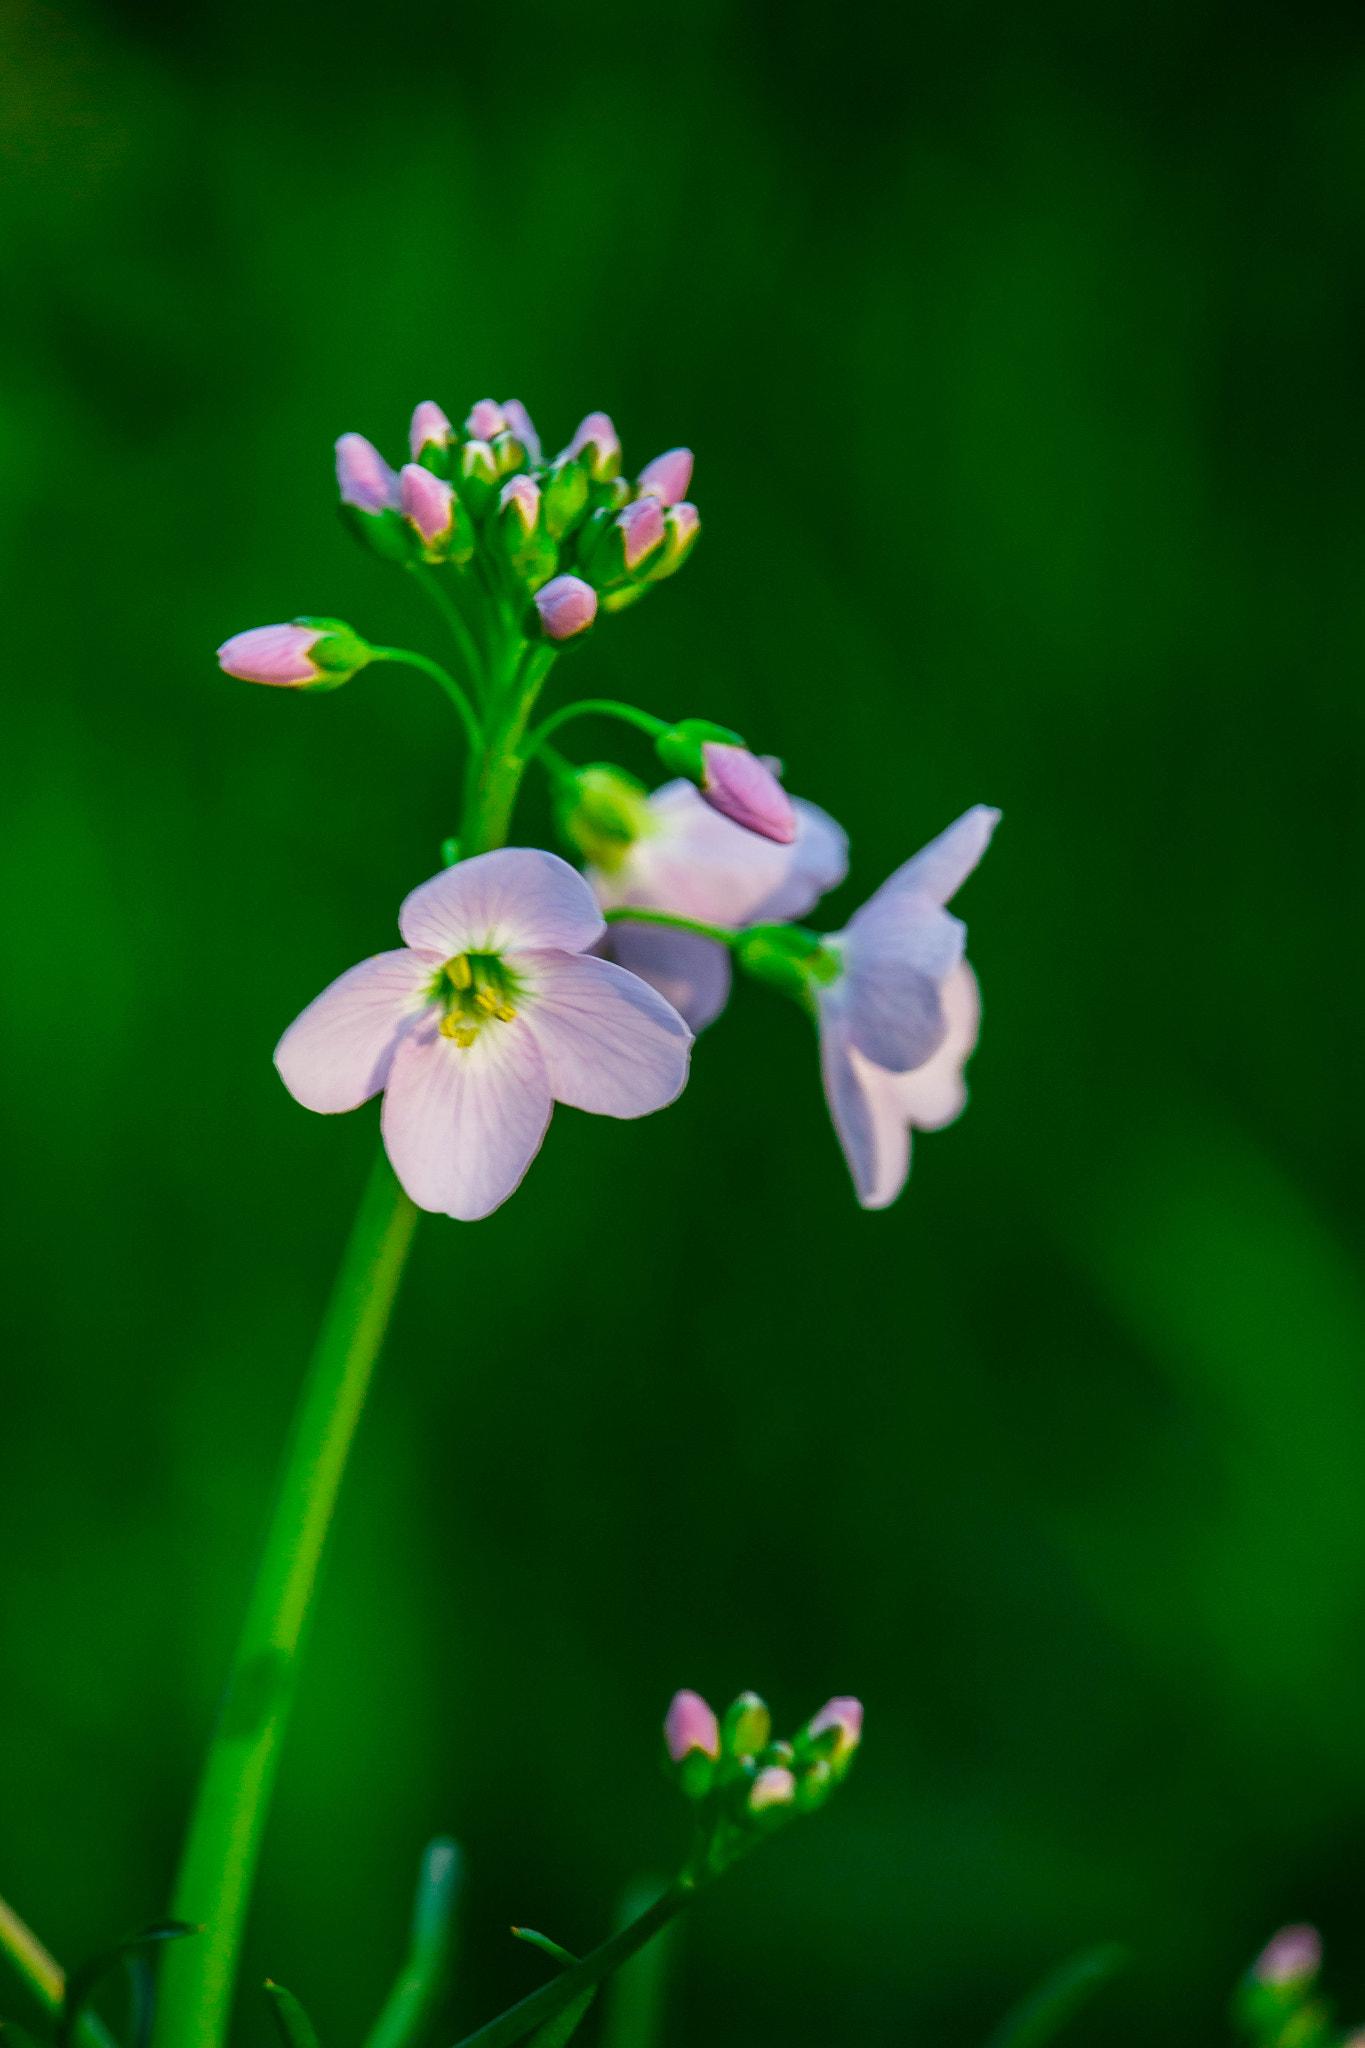
[[[616,961],[526,952],[522,1016],[559,1102],[596,1116],[649,1116],[681,1096],[692,1032],[671,1004]]]

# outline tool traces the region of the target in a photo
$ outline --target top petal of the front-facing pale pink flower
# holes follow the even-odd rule
[[[602,938],[602,911],[567,860],[538,846],[475,854],[422,883],[399,909],[409,946],[454,952],[581,952]]]

